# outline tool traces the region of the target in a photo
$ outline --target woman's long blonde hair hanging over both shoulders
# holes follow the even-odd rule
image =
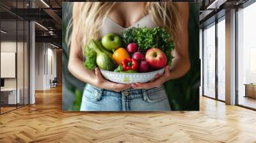
[[[77,45],[82,48],[92,38],[99,40],[102,23],[114,5],[115,2],[79,2],[76,9],[78,15],[75,17],[73,15],[72,17],[72,20],[76,20],[79,28],[71,33],[77,35]],[[179,9],[177,5],[171,1],[147,2],[145,3],[145,14],[147,13],[152,15],[152,19],[157,26],[163,27],[171,34],[175,49],[179,49],[179,43],[175,43],[175,41],[178,41],[177,34],[180,33]],[[71,43],[71,35],[68,36],[68,34],[71,31],[72,20],[68,22],[66,33],[68,45]]]

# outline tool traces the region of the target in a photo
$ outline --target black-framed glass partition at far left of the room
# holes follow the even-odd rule
[[[12,6],[24,8],[25,1],[12,1]],[[0,12],[4,13],[0,17],[0,114],[4,114],[29,104],[29,22],[12,9],[1,6]]]

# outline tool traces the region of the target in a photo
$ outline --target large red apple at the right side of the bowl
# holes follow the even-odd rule
[[[163,68],[167,63],[167,58],[164,52],[157,48],[151,48],[147,50],[146,61],[148,62],[150,68],[160,69]]]

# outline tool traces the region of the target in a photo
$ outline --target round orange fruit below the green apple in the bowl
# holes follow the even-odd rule
[[[115,63],[117,63],[118,65],[122,65],[122,61],[124,61],[124,59],[129,58],[130,55],[127,52],[127,50],[125,50],[124,48],[120,47],[117,50],[115,50],[115,52],[114,52],[112,57],[113,57]]]

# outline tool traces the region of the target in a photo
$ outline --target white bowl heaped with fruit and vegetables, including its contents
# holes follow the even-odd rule
[[[148,82],[172,64],[173,41],[163,28],[132,27],[122,35],[108,33],[84,47],[84,66],[100,68],[105,79],[122,84]]]

